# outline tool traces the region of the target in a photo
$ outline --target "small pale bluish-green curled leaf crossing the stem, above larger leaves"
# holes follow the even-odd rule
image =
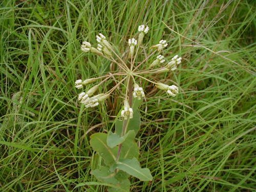
[[[134,139],[135,132],[133,130],[129,131],[123,137],[120,137],[116,133],[110,132],[108,135],[108,138],[106,139],[106,143],[108,144],[109,147],[113,148],[113,147],[123,143],[127,137]]]

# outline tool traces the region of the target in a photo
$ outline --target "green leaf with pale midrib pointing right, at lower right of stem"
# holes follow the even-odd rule
[[[153,177],[150,173],[150,169],[141,168],[140,163],[136,158],[123,159],[116,163],[115,168],[123,170],[127,174],[130,174],[141,181],[152,181]]]

